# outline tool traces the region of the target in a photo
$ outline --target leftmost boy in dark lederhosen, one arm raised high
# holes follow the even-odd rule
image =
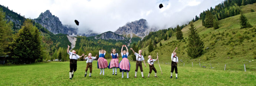
[[[81,58],[83,55],[85,54],[82,54],[82,56],[79,56],[76,54],[76,51],[75,50],[72,50],[72,52],[69,51],[69,45],[68,45],[68,50],[67,50],[67,53],[69,54],[69,68],[70,68],[70,71],[69,71],[69,79],[72,79],[73,76],[74,76],[74,73],[76,71],[76,68],[77,68],[77,59]]]

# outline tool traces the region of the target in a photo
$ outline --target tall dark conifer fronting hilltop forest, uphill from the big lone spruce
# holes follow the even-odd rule
[[[204,19],[204,26],[206,28],[213,27],[213,20],[214,20],[214,17],[211,14],[211,12],[210,11],[206,11],[206,15],[205,15],[205,19]]]

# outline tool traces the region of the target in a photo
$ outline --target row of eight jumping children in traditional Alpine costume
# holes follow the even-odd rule
[[[68,45],[68,50],[67,50],[67,53],[70,55],[69,58],[70,58],[70,71],[69,71],[69,79],[72,79],[73,78],[73,75],[74,75],[74,72],[76,71],[76,68],[77,68],[77,59],[81,58],[82,56],[84,56],[84,54],[82,54],[82,56],[79,56],[76,54],[76,51],[75,50],[72,50],[72,52],[69,51],[69,45]],[[123,50],[123,48],[126,48],[126,51]],[[141,70],[141,76],[142,78],[144,78],[143,76],[143,69],[142,69],[142,61],[144,62],[144,65],[145,67],[146,64],[145,64],[145,61],[144,61],[144,57],[142,55],[142,50],[139,50],[139,53],[136,53],[132,48],[130,48],[132,50],[132,52],[134,53],[134,55],[136,55],[136,69],[135,69],[135,78],[137,78],[137,71],[138,71],[138,67],[140,67],[140,70]],[[177,49],[177,47],[176,47]],[[175,49],[175,50],[176,50]],[[171,63],[171,77],[172,78],[172,74],[173,74],[173,71],[175,69],[175,74],[176,74],[176,79],[178,78],[177,77],[177,62],[178,62],[178,57],[176,56],[176,53],[175,53],[175,50],[173,51],[173,53],[171,54],[171,60],[172,60],[172,63]],[[101,70],[101,72],[99,73],[99,75],[105,75],[104,73],[104,69],[105,68],[109,68],[109,69],[112,69],[113,70],[113,73],[112,75],[117,75],[117,68],[119,68],[119,71],[122,72],[122,78],[124,78],[124,72],[127,73],[127,78],[129,78],[129,71],[130,71],[130,62],[129,60],[127,59],[128,58],[128,48],[126,45],[123,45],[122,46],[122,49],[121,49],[121,56],[122,56],[122,60],[119,62],[119,58],[118,58],[118,53],[116,53],[116,50],[113,49],[111,51],[111,61],[109,62],[108,64],[108,61],[105,59],[105,54],[106,54],[106,51],[105,50],[99,50],[99,59],[98,59],[98,69]],[[74,55],[74,56],[73,56]],[[87,75],[87,71],[88,71],[88,68],[90,69],[90,74],[89,74],[89,77],[91,77],[91,74],[92,74],[92,61],[94,59],[97,58],[97,55],[95,57],[92,57],[92,54],[89,53],[88,56],[85,55],[83,59],[87,60],[86,63],[86,69],[85,69],[85,77]],[[157,59],[152,59],[151,58],[151,55],[148,56],[148,64],[149,64],[149,67],[150,67],[150,72],[148,74],[148,77],[150,76],[152,70],[154,70],[155,72],[155,77],[157,77],[157,70],[155,69],[154,67],[154,61],[157,61],[158,60],[158,56],[157,56]]]

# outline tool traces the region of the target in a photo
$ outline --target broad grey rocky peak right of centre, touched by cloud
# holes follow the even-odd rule
[[[119,35],[129,35],[134,34],[141,38],[148,35],[149,32],[155,32],[153,28],[149,28],[148,22],[145,19],[140,19],[138,21],[128,22],[122,27],[119,27],[115,33]]]

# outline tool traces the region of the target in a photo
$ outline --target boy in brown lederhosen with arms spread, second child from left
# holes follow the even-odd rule
[[[92,60],[96,59],[97,58],[97,55],[95,57],[92,57],[92,53],[89,53],[88,54],[88,57],[87,55],[85,55],[85,57],[83,57],[83,59],[87,60],[86,63],[86,69],[85,69],[85,77],[87,75],[87,71],[88,71],[88,68],[90,68],[90,75],[89,77],[92,77],[91,74],[92,74]]]

